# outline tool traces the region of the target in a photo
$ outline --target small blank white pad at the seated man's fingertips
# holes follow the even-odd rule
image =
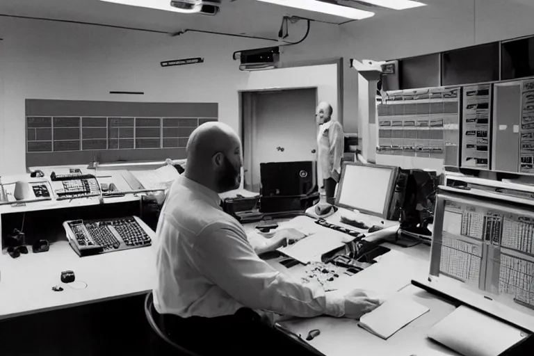
[[[395,296],[386,300],[373,312],[362,316],[358,326],[387,340],[428,310],[430,309],[408,296]]]

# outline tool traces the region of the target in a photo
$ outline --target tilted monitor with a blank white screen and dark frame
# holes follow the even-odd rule
[[[397,167],[345,163],[336,205],[387,218],[394,195]]]

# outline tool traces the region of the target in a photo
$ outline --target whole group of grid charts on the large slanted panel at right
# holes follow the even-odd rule
[[[446,201],[439,273],[462,282],[486,275],[479,285],[499,285],[499,293],[534,308],[534,218],[525,215]]]

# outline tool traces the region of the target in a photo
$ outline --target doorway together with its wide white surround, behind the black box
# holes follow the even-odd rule
[[[245,189],[259,192],[261,162],[316,161],[316,104],[328,102],[332,119],[341,118],[339,81],[338,64],[250,72],[238,90]],[[320,172],[317,179],[321,186]]]

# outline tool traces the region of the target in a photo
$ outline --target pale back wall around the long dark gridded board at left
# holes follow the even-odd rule
[[[249,74],[238,70],[232,53],[271,43],[196,33],[171,38],[9,18],[1,19],[0,33],[0,175],[26,170],[26,98],[217,102],[220,121],[237,130],[236,90]],[[190,57],[204,57],[205,63],[168,68],[159,64]],[[111,90],[145,95],[110,95]]]

